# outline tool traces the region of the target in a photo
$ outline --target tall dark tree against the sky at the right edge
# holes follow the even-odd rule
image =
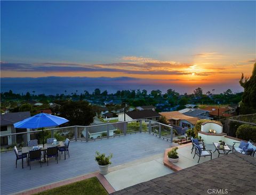
[[[244,78],[244,74],[242,73],[239,83],[244,88],[239,112],[241,114],[256,113],[256,63],[253,65],[250,79],[246,77]]]

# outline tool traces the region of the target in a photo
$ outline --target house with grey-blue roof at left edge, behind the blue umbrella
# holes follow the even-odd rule
[[[7,136],[10,133],[21,133],[29,131],[29,129],[18,129],[14,128],[14,123],[25,120],[30,117],[30,112],[17,112],[17,113],[6,113],[1,115],[1,135],[6,137],[1,137],[1,146],[12,145],[12,143],[21,143],[25,142],[24,139],[30,139],[28,137],[23,137],[23,135]]]

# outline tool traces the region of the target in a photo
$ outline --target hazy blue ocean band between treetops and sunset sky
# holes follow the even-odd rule
[[[239,86],[239,83],[232,85],[214,86],[214,84],[201,86],[185,84],[162,84],[157,80],[150,79],[136,79],[129,77],[118,77],[118,78],[89,78],[89,77],[42,77],[42,78],[1,78],[1,92],[9,91],[10,89],[16,94],[25,94],[27,91],[32,94],[71,94],[72,92],[78,91],[78,94],[84,92],[84,90],[90,93],[94,89],[99,88],[101,91],[107,90],[109,93],[115,93],[117,90],[130,90],[130,89],[146,89],[148,93],[151,90],[159,89],[162,93],[165,93],[167,89],[174,89],[180,94],[187,92],[192,94],[193,90],[197,87],[201,87],[203,92],[211,91],[215,89],[214,93],[218,94],[227,89],[231,89],[233,92],[241,92],[243,88]]]

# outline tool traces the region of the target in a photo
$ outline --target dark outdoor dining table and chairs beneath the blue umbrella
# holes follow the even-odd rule
[[[47,161],[47,166],[49,165],[49,158],[55,157],[55,160],[57,160],[58,164],[58,157],[62,152],[65,154],[65,160],[66,160],[66,153],[69,157],[69,142],[70,140],[67,138],[65,142],[59,141],[57,143],[54,143],[55,138],[49,138],[47,139],[47,143],[44,145],[37,145],[37,140],[30,140],[27,142],[26,147],[21,148],[21,154],[19,154],[19,151],[16,146],[14,146],[14,152],[16,155],[16,168],[17,168],[17,161],[19,159],[22,160],[22,168],[23,168],[23,159],[26,158],[27,165],[29,165],[29,169],[31,169],[31,161],[39,160],[40,166],[42,167],[41,161],[42,161],[42,151],[43,151],[43,161]]]

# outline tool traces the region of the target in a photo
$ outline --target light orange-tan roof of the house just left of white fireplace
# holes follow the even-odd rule
[[[199,120],[199,118],[197,117],[187,116],[185,114],[180,113],[179,111],[162,112],[159,114],[165,116],[167,120],[185,120],[194,125]]]

